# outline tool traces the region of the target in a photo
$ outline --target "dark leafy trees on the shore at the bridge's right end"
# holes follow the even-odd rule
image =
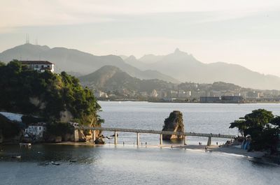
[[[245,117],[230,124],[230,128],[238,128],[241,135],[251,135],[251,149],[270,149],[276,151],[279,137],[280,117],[264,109],[253,110]]]

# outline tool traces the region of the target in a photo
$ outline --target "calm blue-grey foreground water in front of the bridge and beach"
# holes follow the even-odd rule
[[[20,149],[14,145],[3,146],[0,158],[0,184],[256,185],[280,181],[277,166],[176,148],[33,145]]]

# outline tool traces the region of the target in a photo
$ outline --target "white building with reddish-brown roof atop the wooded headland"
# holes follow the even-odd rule
[[[27,66],[29,69],[39,71],[41,73],[45,71],[55,72],[55,64],[50,61],[20,61],[22,65]]]

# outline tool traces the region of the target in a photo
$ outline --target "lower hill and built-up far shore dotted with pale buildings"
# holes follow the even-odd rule
[[[181,101],[200,101],[202,96],[208,97],[208,100],[211,97],[242,96],[250,101],[279,101],[280,97],[280,91],[277,90],[244,88],[226,82],[174,84],[163,80],[140,80],[115,66],[103,66],[94,73],[78,78],[84,87],[94,90],[95,96],[99,99],[171,100],[176,98]]]

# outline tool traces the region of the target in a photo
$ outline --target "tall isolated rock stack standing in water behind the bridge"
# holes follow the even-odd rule
[[[174,110],[165,119],[162,131],[184,132],[183,114],[179,110]],[[183,139],[182,135],[162,135],[163,140]]]

